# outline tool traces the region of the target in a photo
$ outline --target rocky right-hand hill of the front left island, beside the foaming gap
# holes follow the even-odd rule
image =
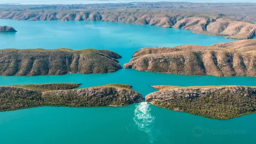
[[[115,87],[95,87],[79,90],[44,92],[42,95],[47,105],[65,106],[125,106],[142,102],[138,92]]]

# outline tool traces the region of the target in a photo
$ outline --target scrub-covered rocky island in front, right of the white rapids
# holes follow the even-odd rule
[[[146,102],[174,111],[207,118],[229,119],[256,111],[256,87],[247,86],[153,86],[158,92]]]

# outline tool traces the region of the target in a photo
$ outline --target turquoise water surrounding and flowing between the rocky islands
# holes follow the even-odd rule
[[[0,33],[0,49],[108,49],[128,62],[147,46],[211,45],[234,39],[158,26],[100,21],[0,20],[17,33]],[[131,42],[130,42],[131,41]],[[81,83],[80,88],[109,83],[133,85],[144,96],[150,85],[256,85],[256,78],[184,76],[122,69],[106,74],[4,77],[0,85]],[[125,107],[37,107],[0,112],[0,144],[241,144],[253,143],[256,114],[214,120],[140,103]]]

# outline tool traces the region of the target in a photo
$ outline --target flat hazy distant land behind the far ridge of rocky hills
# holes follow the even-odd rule
[[[171,13],[212,13],[225,15],[236,20],[256,21],[255,3],[209,3],[209,2],[131,2],[131,3],[101,3],[72,5],[17,5],[1,4],[0,9],[6,11],[28,10],[81,10],[81,9],[131,9],[147,12]]]

